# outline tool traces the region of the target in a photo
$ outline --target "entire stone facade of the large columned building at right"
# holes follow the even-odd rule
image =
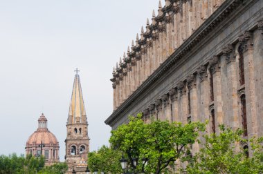
[[[226,124],[247,130],[246,138],[263,136],[262,17],[260,0],[160,4],[114,68],[105,123],[115,129],[143,112],[145,122],[209,119],[210,133]]]

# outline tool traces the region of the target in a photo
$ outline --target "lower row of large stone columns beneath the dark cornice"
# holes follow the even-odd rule
[[[258,27],[258,29],[263,31],[263,27]],[[231,128],[242,128],[240,95],[244,93],[248,101],[246,103],[248,138],[257,136],[262,124],[258,115],[262,111],[257,110],[256,107],[258,101],[255,94],[255,52],[252,35],[252,32],[244,32],[239,36],[239,43],[226,46],[219,55],[215,55],[192,75],[179,81],[174,88],[169,90],[169,93],[156,99],[153,104],[143,110],[145,122],[150,122],[150,117],[183,124],[189,121],[188,118],[192,122],[205,122],[210,119],[211,111],[214,110],[216,132],[219,132],[219,124],[225,124]],[[260,44],[262,40],[263,37],[261,41],[255,42]],[[246,84],[243,86],[239,84],[238,49],[240,47],[244,47],[242,54]],[[260,57],[260,55],[257,56]],[[208,78],[210,76],[212,78]],[[210,97],[209,79],[212,79],[213,100]],[[211,126],[208,126],[206,131],[211,133]],[[194,144],[193,148],[197,152],[198,144]]]

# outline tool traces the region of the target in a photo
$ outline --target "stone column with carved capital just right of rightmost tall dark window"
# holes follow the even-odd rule
[[[246,117],[248,125],[248,139],[258,133],[257,108],[255,104],[255,63],[253,57],[252,33],[246,31],[239,37],[239,52],[244,56],[245,93],[246,93]]]

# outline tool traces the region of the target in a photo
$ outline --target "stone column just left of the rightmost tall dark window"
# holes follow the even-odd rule
[[[226,46],[223,50],[224,59],[226,59],[227,69],[227,84],[228,84],[228,126],[231,128],[239,128],[239,115],[238,115],[238,99],[237,99],[237,68],[236,68],[236,54],[235,48],[232,45]],[[216,59],[216,58],[214,58]],[[217,63],[217,60],[214,61]],[[212,64],[213,70],[216,70],[216,64]]]

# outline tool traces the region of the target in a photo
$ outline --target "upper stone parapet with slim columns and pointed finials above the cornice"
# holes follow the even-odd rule
[[[143,28],[128,48],[127,55],[120,58],[113,72],[114,110],[152,75],[170,57],[183,41],[188,39],[203,21],[214,12],[224,0],[166,0],[158,15],[152,14],[152,24],[147,19]]]

